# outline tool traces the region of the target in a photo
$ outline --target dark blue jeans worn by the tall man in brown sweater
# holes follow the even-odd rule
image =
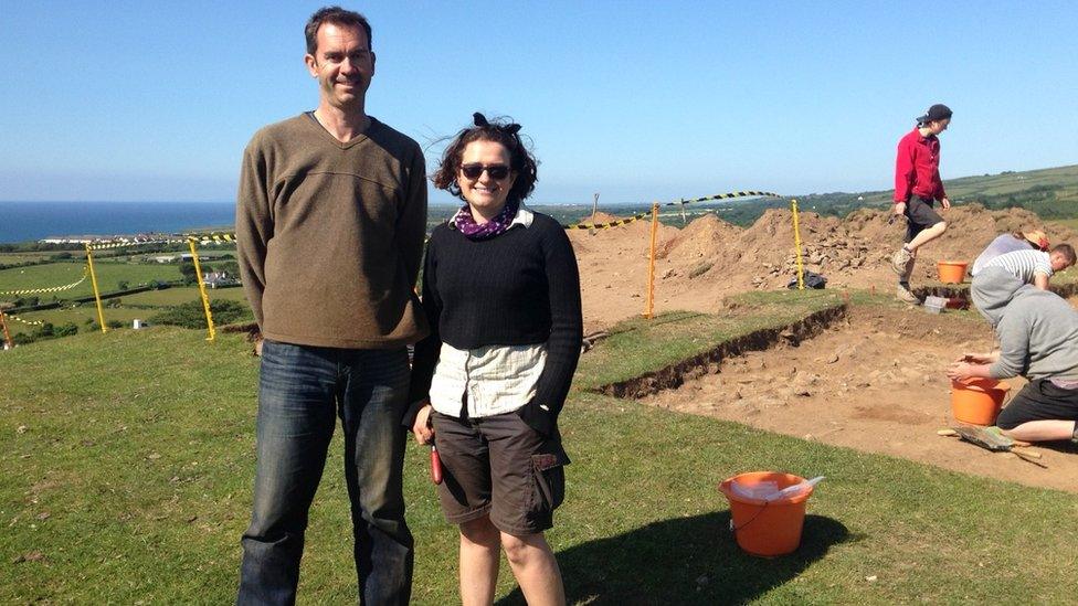
[[[406,604],[412,533],[402,474],[408,352],[265,341],[258,384],[257,470],[243,534],[237,604],[294,604],[307,512],[336,417],[345,432],[359,597]]]

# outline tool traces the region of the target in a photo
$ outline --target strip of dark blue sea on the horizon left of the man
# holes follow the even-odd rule
[[[0,202],[0,243],[235,224],[235,202]]]

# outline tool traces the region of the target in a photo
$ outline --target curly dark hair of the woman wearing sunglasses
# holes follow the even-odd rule
[[[438,168],[431,176],[434,187],[446,190],[453,195],[464,200],[461,192],[461,184],[457,183],[457,174],[461,172],[461,158],[464,157],[464,148],[472,141],[493,141],[501,143],[509,150],[509,168],[517,174],[516,181],[509,188],[508,201],[520,202],[531,195],[536,189],[536,181],[539,180],[537,171],[538,162],[535,156],[520,139],[520,125],[512,124],[508,118],[495,118],[488,121],[483,114],[476,111],[472,115],[475,126],[465,128],[453,137],[450,145],[442,153],[442,161]]]

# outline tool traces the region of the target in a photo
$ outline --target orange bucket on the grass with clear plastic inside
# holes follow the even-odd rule
[[[733,482],[751,488],[769,481],[775,482],[782,490],[805,479],[793,474],[751,471],[719,485],[719,490],[730,501],[730,530],[738,546],[752,555],[784,555],[797,549],[805,523],[805,501],[813,490],[808,487],[794,497],[765,501],[738,495],[731,488]]]

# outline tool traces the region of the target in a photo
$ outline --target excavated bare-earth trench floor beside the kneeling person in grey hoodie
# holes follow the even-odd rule
[[[800,345],[728,359],[643,402],[804,439],[918,460],[969,474],[1078,492],[1068,446],[1034,446],[1040,468],[940,437],[952,425],[943,369],[962,351],[993,347],[987,325],[921,310],[855,306],[847,320]],[[1021,380],[1013,382],[1015,390]]]

